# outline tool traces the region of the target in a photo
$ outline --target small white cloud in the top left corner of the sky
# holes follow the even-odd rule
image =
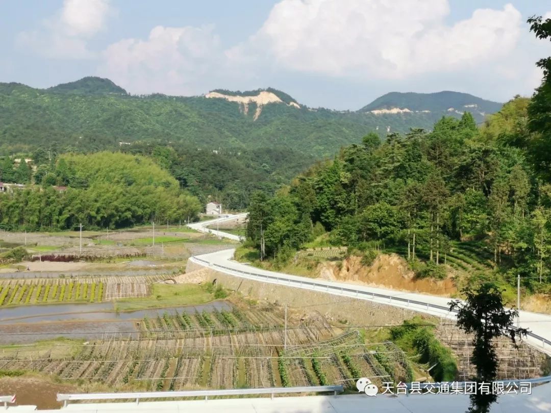
[[[50,58],[95,57],[88,40],[105,26],[110,0],[64,0],[61,10],[34,31],[20,32],[16,44]]]

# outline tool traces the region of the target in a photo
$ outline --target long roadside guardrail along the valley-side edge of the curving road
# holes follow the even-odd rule
[[[242,271],[230,267],[225,267],[224,265],[214,264],[207,260],[204,260],[199,257],[191,257],[190,260],[199,265],[206,265],[207,267],[221,270],[222,272],[230,275],[236,275],[242,278],[248,278],[256,281],[270,282],[272,284],[293,286],[306,290],[313,290],[319,292],[327,292],[328,294],[359,298],[361,300],[374,301],[381,304],[392,305],[395,307],[401,307],[405,309],[410,309],[413,311],[420,311],[424,313],[433,314],[438,317],[455,319],[457,310],[450,311],[449,307],[431,304],[427,302],[411,300],[410,298],[397,297],[385,294],[379,294],[376,292],[368,292],[351,287],[342,287],[331,285],[329,282],[316,282],[314,280],[296,280],[291,278],[283,278],[277,275],[268,275],[268,274],[256,274],[251,273],[250,271]],[[514,327],[515,328],[515,327]],[[531,342],[534,347],[541,348],[545,352],[549,352],[551,349],[551,340],[545,339],[542,336],[537,334],[528,333],[528,336],[534,339],[534,342]],[[541,345],[536,345],[541,343]]]

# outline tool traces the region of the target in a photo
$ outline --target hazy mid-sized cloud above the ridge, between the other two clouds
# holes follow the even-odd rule
[[[147,40],[125,39],[104,51],[99,74],[134,93],[196,94],[222,70],[223,51],[214,26],[155,27]]]

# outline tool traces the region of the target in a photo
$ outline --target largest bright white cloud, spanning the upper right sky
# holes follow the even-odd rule
[[[404,78],[458,70],[507,55],[521,14],[477,9],[447,25],[447,0],[283,0],[235,60],[269,53],[280,67],[334,76]]]

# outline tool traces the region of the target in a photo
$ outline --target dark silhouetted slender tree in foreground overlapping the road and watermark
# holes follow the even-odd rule
[[[466,300],[450,301],[450,310],[458,311],[457,327],[474,335],[472,362],[476,366],[477,375],[473,381],[491,383],[498,378],[498,356],[492,340],[505,335],[515,341],[526,336],[527,330],[513,327],[518,310],[504,308],[502,291],[492,282],[483,282],[476,289],[466,287],[462,292]],[[477,391],[471,394],[468,411],[487,413],[497,399],[497,394]]]

